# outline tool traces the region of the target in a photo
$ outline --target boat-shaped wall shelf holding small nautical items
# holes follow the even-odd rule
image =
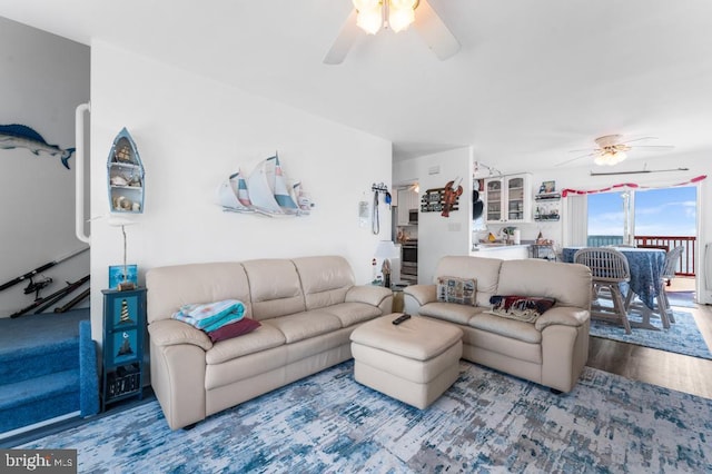
[[[126,128],[113,139],[107,162],[111,213],[144,211],[144,165],[136,142]]]

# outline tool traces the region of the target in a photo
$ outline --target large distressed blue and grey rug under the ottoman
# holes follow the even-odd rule
[[[586,367],[570,394],[461,362],[427,409],[353,379],[353,362],[171,432],[157,402],[22,448],[79,472],[712,472],[712,401]]]

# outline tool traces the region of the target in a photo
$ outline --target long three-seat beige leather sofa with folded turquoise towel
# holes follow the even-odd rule
[[[352,358],[350,333],[392,312],[337,256],[191,264],[146,276],[151,385],[172,429]],[[171,319],[182,305],[239,299],[261,326],[212,343]]]

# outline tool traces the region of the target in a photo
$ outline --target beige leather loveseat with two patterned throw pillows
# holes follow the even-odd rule
[[[541,259],[500,260],[447,256],[438,277],[476,280],[476,305],[439,303],[436,285],[404,290],[405,312],[456,324],[463,329],[463,358],[570,392],[589,356],[591,270],[576,264]],[[485,313],[493,295],[555,298],[534,323]]]

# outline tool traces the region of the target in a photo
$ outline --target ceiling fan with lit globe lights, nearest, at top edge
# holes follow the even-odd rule
[[[459,50],[459,42],[427,0],[353,0],[353,3],[354,10],[324,57],[325,65],[340,65],[364,31],[375,34],[384,27],[398,32],[411,23],[441,60]]]

